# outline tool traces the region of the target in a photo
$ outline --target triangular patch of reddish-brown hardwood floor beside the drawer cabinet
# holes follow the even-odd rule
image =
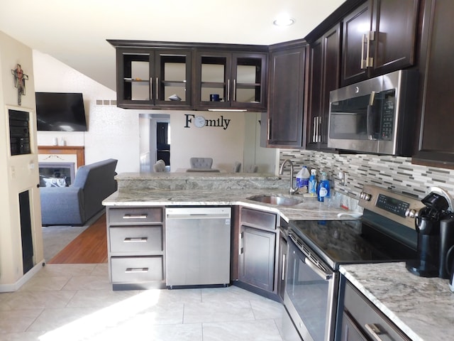
[[[48,264],[100,263],[107,263],[105,214],[48,261]]]

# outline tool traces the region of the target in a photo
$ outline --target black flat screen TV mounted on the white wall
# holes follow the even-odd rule
[[[84,99],[78,92],[36,92],[38,131],[87,131]]]

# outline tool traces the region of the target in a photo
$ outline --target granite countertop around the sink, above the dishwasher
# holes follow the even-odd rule
[[[298,198],[301,204],[294,206],[272,205],[248,200],[254,195],[272,194]],[[286,190],[251,189],[240,190],[198,189],[198,190],[140,190],[135,188],[119,189],[103,200],[105,206],[170,206],[170,205],[243,205],[281,215],[284,220],[351,220],[352,217],[338,213],[349,212],[340,207],[331,207],[319,202],[316,197],[289,195]]]

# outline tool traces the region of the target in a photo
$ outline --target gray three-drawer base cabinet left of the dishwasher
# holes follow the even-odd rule
[[[165,288],[163,207],[107,207],[109,278],[114,290]]]

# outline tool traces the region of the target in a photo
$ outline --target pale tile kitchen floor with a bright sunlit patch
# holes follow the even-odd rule
[[[1,341],[290,340],[283,323],[281,304],[236,286],[112,291],[107,264],[48,264],[0,293]]]

